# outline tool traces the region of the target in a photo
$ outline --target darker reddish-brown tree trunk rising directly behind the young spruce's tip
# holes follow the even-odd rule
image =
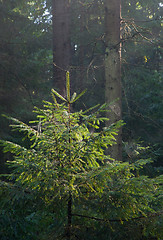
[[[70,1],[52,0],[54,86],[65,96],[66,70],[70,65]]]

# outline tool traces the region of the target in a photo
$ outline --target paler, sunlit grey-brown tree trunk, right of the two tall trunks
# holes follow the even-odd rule
[[[109,125],[121,119],[121,46],[120,46],[120,0],[105,0],[105,98],[111,112],[108,112]],[[109,149],[111,157],[122,158],[122,133],[117,136],[117,144]]]

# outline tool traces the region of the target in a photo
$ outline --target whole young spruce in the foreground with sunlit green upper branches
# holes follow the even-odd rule
[[[73,112],[85,91],[71,97],[69,72],[66,79],[67,97],[52,89],[53,102],[35,107],[37,120],[27,125],[9,118],[30,143],[1,141],[14,157],[9,183],[0,182],[3,240],[98,239],[102,229],[106,238],[112,232],[106,224],[158,214],[161,180],[139,176],[150,160],[130,164],[107,155],[123,123],[105,127],[105,105]],[[96,226],[99,221],[103,227]]]

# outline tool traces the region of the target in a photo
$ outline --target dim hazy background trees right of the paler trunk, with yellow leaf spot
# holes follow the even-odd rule
[[[158,167],[162,165],[162,8],[159,1],[123,4],[123,38],[128,39],[122,51],[123,118],[127,123],[123,137],[131,148],[133,139],[150,145]]]

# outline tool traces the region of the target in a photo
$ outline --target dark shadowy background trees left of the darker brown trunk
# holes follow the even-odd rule
[[[32,117],[31,109],[51,88],[52,44],[49,16],[40,2],[0,2],[0,113]],[[37,13],[37,14],[36,14]],[[0,114],[0,137],[15,138]],[[1,171],[6,171],[1,153]]]

